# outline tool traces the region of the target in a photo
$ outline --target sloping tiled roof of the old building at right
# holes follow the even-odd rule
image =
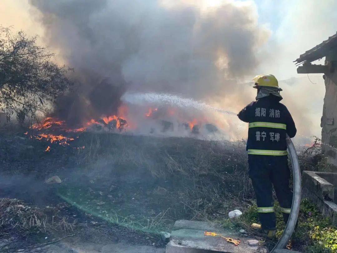
[[[323,58],[333,50],[337,51],[337,32],[336,34],[330,36],[327,40],[318,44],[316,47],[306,51],[304,54],[301,54],[294,62],[296,62],[296,64],[300,64],[304,61],[312,62]]]

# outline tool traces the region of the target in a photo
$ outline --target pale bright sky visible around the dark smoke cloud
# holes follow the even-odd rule
[[[297,74],[293,61],[306,50],[336,33],[337,12],[333,10],[337,9],[337,1],[162,0],[162,2],[167,8],[190,4],[200,6],[205,11],[228,2],[238,6],[249,6],[251,15],[257,17],[258,25],[268,31],[263,35],[266,36],[265,43],[256,48],[259,59],[256,75],[274,74],[278,80],[300,78],[298,81],[287,81],[284,84],[283,101],[289,104],[290,112],[294,111],[295,121],[302,121],[300,124],[304,125],[310,122],[310,128],[303,130],[304,136],[320,136],[319,124],[325,94],[324,80],[321,74],[308,76]],[[23,30],[28,35],[39,34],[38,43],[48,45],[48,33],[40,23],[39,12],[29,4],[28,0],[2,0],[0,13],[2,13],[0,15],[2,26],[12,26],[12,30]],[[54,52],[58,54],[57,51]],[[60,60],[58,57],[56,59]],[[323,61],[324,59],[321,60]],[[243,81],[250,80],[250,77],[245,77]],[[251,100],[254,100],[254,96],[255,94],[252,93]],[[247,104],[249,102],[247,101]],[[234,107],[233,110],[237,108]]]

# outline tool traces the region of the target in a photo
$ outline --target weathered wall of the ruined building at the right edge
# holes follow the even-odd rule
[[[326,61],[337,60],[337,55],[326,57]],[[329,163],[337,170],[337,69],[325,74],[325,97],[323,106],[322,150],[328,156]]]

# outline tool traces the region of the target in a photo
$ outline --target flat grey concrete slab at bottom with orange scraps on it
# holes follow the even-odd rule
[[[249,246],[247,243],[254,238],[225,231],[214,223],[182,220],[175,223],[174,229],[166,253],[255,253],[258,250],[258,246]],[[216,232],[241,242],[235,246],[219,236],[205,236],[205,231]]]

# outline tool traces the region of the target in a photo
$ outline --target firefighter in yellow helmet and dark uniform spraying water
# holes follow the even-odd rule
[[[290,171],[286,134],[296,135],[292,116],[281,104],[281,88],[273,75],[259,75],[253,81],[257,89],[256,101],[251,102],[238,114],[240,120],[248,122],[249,177],[256,195],[260,224],[252,228],[259,233],[274,237],[276,218],[273,206],[273,186],[286,223],[292,205],[293,192],[289,187]]]

